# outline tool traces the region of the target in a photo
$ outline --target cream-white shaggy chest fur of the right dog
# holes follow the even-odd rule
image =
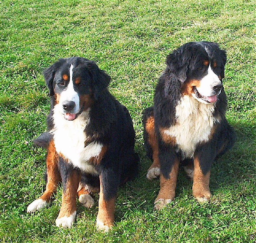
[[[182,97],[176,106],[177,123],[164,133],[176,138],[183,159],[193,157],[196,145],[209,140],[212,127],[218,122],[213,117],[214,108],[214,104],[198,102],[191,96]]]

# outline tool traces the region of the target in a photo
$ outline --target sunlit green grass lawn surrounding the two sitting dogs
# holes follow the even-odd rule
[[[2,0],[0,241],[256,242],[255,7],[250,0]],[[146,179],[142,111],[153,104],[166,55],[201,40],[227,51],[223,82],[237,142],[212,166],[210,203],[192,197],[181,168],[175,200],[154,211],[159,181]],[[95,60],[108,72],[109,90],[127,106],[136,131],[140,173],[119,190],[107,234],[95,229],[97,204],[78,205],[72,229],[55,226],[61,187],[51,207],[26,213],[44,191],[46,152],[32,145],[49,110],[42,70],[70,56]]]

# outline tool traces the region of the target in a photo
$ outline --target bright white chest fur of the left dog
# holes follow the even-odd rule
[[[57,153],[63,154],[68,159],[68,162],[81,170],[97,174],[88,161],[100,154],[103,145],[92,142],[84,147],[84,141],[87,139],[84,129],[89,120],[88,110],[78,115],[75,120],[67,121],[58,109],[53,109],[54,129],[52,129],[51,133],[53,134]]]

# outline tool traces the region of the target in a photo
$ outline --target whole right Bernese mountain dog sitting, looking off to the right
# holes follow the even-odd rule
[[[210,42],[186,43],[167,56],[154,106],[143,113],[144,144],[153,160],[147,178],[160,176],[156,209],[174,199],[179,164],[193,179],[194,197],[210,200],[212,162],[236,139],[225,118],[225,64],[226,52]]]

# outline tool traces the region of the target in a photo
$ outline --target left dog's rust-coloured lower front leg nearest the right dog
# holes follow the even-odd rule
[[[96,227],[98,230],[108,232],[114,223],[116,197],[109,200],[104,199],[102,183],[100,179],[100,197],[99,197],[99,212],[97,215]]]

